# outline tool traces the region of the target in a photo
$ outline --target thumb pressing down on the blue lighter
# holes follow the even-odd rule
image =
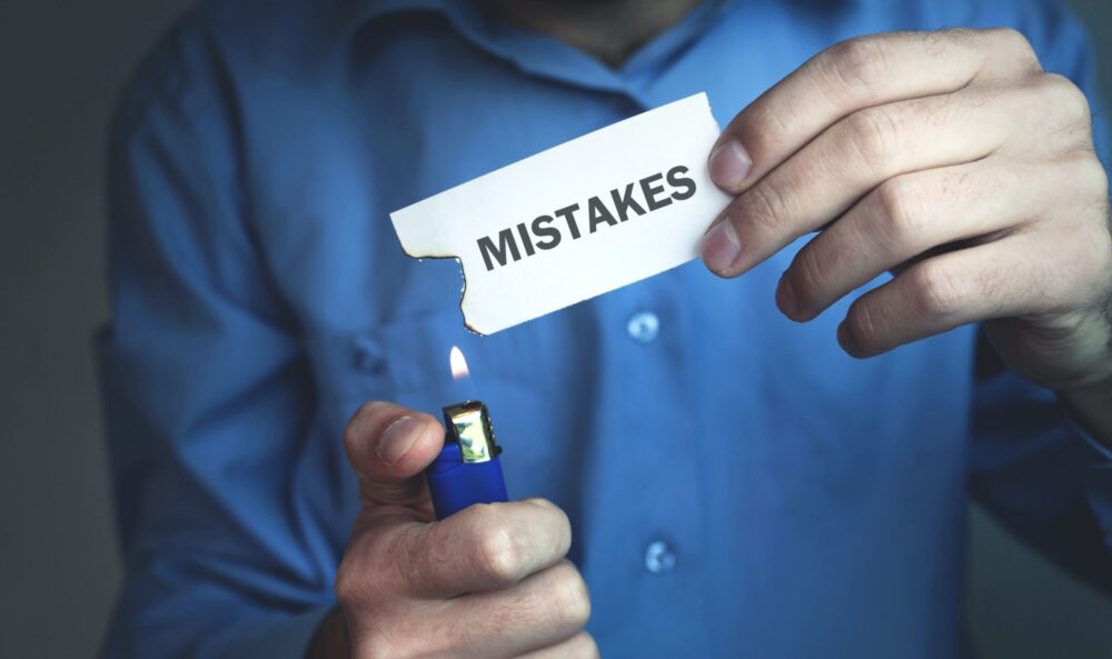
[[[344,431],[348,461],[359,477],[364,522],[433,521],[424,470],[444,446],[440,422],[391,402],[361,406]]]

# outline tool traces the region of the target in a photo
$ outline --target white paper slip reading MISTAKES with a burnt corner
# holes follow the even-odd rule
[[[706,169],[717,137],[699,93],[434,194],[390,220],[410,257],[459,261],[464,324],[494,333],[696,258],[731,199]],[[481,148],[497,158],[502,146]],[[440,171],[414,167],[418,184]]]

